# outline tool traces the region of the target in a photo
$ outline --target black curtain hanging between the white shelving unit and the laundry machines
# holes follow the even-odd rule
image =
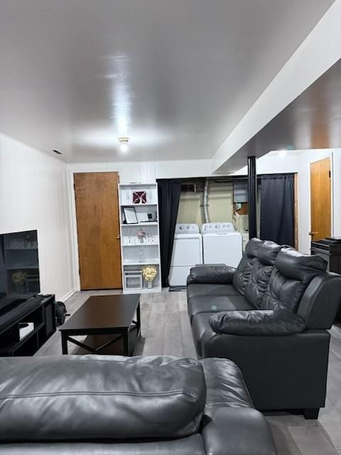
[[[181,193],[181,180],[158,180],[158,225],[160,229],[161,282],[169,286],[176,218]]]

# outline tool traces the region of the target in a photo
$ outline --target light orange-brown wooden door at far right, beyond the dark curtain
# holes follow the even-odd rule
[[[332,217],[330,198],[330,159],[310,164],[311,240],[330,237]]]

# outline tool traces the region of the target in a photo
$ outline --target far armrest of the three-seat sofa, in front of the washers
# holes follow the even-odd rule
[[[205,265],[192,267],[187,278],[187,285],[202,284],[232,284],[234,272],[237,269],[228,265]]]

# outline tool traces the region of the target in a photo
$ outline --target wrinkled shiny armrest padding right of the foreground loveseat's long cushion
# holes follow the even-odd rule
[[[200,362],[206,380],[206,415],[215,407],[254,406],[242,372],[232,360],[208,357]]]

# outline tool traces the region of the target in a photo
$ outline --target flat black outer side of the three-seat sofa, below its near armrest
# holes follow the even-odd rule
[[[237,363],[258,410],[318,408],[325,406],[329,342],[325,330],[269,338],[207,328],[200,355]]]

